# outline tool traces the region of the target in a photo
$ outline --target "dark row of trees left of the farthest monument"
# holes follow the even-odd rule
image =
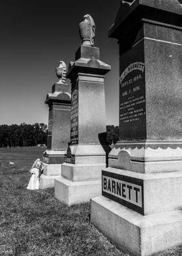
[[[44,123],[20,123],[0,125],[0,147],[27,147],[47,144],[47,125]]]

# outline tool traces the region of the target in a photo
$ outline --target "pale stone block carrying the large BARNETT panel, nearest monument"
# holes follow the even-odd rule
[[[102,174],[103,195],[144,216],[181,210],[181,183],[182,172],[146,175],[109,167]]]

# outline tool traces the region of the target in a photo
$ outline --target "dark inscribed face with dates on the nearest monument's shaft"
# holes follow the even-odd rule
[[[120,140],[146,138],[143,42],[120,57]]]

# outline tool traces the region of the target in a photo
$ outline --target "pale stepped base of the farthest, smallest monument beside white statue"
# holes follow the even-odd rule
[[[55,187],[55,178],[61,177],[61,165],[44,163],[44,173],[40,176],[40,189]]]

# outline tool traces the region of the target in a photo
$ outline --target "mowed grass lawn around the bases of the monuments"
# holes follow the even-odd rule
[[[0,148],[0,255],[126,256],[90,225],[89,204],[68,207],[54,189],[26,189],[29,169],[44,150]],[[182,249],[160,255],[182,255]]]

